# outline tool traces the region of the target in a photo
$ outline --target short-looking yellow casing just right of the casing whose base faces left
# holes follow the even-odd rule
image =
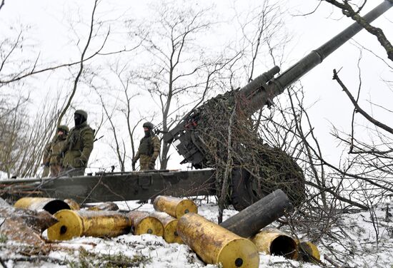
[[[157,237],[164,235],[164,226],[155,217],[151,217],[149,212],[133,210],[127,213],[127,217],[132,222],[132,232],[134,234],[154,234]]]

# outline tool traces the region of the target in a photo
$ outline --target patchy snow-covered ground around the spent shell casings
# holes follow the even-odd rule
[[[218,206],[211,201],[199,205],[199,215],[217,222]],[[134,201],[118,205],[123,210],[154,210],[151,204]],[[393,267],[393,224],[389,222],[393,218],[387,215],[386,205],[374,212],[374,221],[369,212],[343,215],[332,227],[332,233],[342,239],[326,236],[317,244],[322,264],[260,253],[259,267]],[[224,210],[224,220],[236,213]],[[6,267],[218,267],[204,264],[186,244],[168,244],[151,234],[124,234],[111,239],[78,237],[41,250],[4,240],[0,241],[0,258]],[[21,261],[24,259],[29,262]]]

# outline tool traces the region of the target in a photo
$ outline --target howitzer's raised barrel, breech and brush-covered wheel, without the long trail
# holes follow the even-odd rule
[[[371,22],[392,5],[392,1],[384,1],[364,16],[364,19]],[[221,143],[224,143],[223,146],[228,146],[228,140],[225,139],[224,135],[216,135],[213,138],[211,136],[214,135],[214,133],[212,134],[214,131],[228,132],[229,123],[222,123],[223,128],[221,129],[213,128],[212,126],[216,121],[229,121],[231,111],[236,112],[239,117],[248,119],[264,105],[272,105],[273,99],[283,93],[285,88],[292,85],[319,63],[322,63],[324,58],[360,30],[362,30],[362,26],[354,23],[279,76],[275,77],[280,69],[278,66],[274,66],[238,91],[226,93],[226,96],[221,98],[217,96],[207,100],[206,103],[191,110],[174,129],[166,133],[164,141],[174,143],[176,150],[184,158],[181,163],[191,163],[197,169],[216,168],[218,170],[217,162],[227,163],[229,156],[225,154],[225,150],[221,150],[219,154],[224,155],[224,157],[220,158],[221,155],[212,153],[212,148],[217,150],[221,145],[214,143],[220,143],[219,140],[223,139],[224,142],[221,141]],[[209,113],[215,113],[215,115]],[[227,117],[221,116],[220,113],[226,113]],[[242,125],[242,129],[248,127],[247,123],[242,123],[239,120],[236,124]],[[208,131],[210,133],[207,133]],[[237,133],[240,131],[238,129]],[[232,132],[236,132],[236,130],[232,130]],[[244,136],[249,138],[249,135]],[[237,210],[244,209],[269,194],[269,192],[279,188],[287,193],[294,205],[299,205],[304,200],[302,170],[294,160],[289,159],[290,157],[287,154],[284,154],[278,148],[262,145],[261,138],[259,140],[254,139],[253,145],[247,145],[249,140],[237,137],[237,143],[239,144],[233,145],[232,142],[234,153],[238,156],[237,158],[231,156],[234,159],[232,160],[232,181],[230,183],[232,185],[232,204]],[[258,145],[258,143],[261,145]],[[259,148],[255,148],[256,145]],[[252,154],[252,157],[249,157],[250,154]],[[217,161],[217,158],[219,158],[219,161]]]

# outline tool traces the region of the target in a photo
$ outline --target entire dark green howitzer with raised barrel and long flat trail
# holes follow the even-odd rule
[[[364,16],[368,22],[377,19],[378,16],[393,6],[391,0],[385,0],[376,8]],[[277,76],[279,67],[274,66],[271,70],[255,78],[238,91],[226,93],[232,103],[227,110],[240,111],[242,115],[249,117],[264,105],[272,104],[273,99],[279,96],[285,88],[292,85],[305,73],[321,63],[324,58],[342,46],[350,38],[362,29],[357,23],[352,24],[347,29],[339,33],[323,46],[309,53],[298,63]],[[181,119],[175,128],[164,134],[166,143],[174,143],[176,150],[184,158],[181,163],[191,163],[197,170],[192,171],[166,171],[166,172],[121,172],[121,173],[101,173],[94,176],[79,177],[58,177],[48,180],[34,180],[26,185],[26,180],[13,180],[12,185],[19,183],[18,187],[11,187],[10,182],[0,182],[3,184],[4,195],[16,195],[17,192],[28,192],[29,195],[41,195],[54,198],[73,198],[79,202],[102,202],[116,200],[146,200],[156,195],[192,196],[192,195],[214,195],[217,187],[216,178],[217,166],[212,160],[212,154],[207,148],[206,136],[202,133],[202,126],[206,128],[212,121],[207,120],[206,111],[212,103],[222,103],[220,96],[208,100],[206,103],[191,110]],[[209,106],[210,105],[210,106]],[[228,111],[227,111],[228,112]],[[223,123],[227,126],[228,123]],[[256,139],[257,140],[257,139]],[[258,140],[257,140],[258,142]],[[236,148],[244,150],[247,145],[241,144]],[[297,205],[304,197],[304,177],[299,166],[277,148],[261,146],[268,151],[263,151],[259,155],[261,160],[266,160],[269,155],[279,156],[279,160],[285,160],[292,169],[290,176],[277,175],[278,180],[282,180],[287,188],[296,188],[293,195],[287,193],[289,199]],[[247,149],[247,148],[246,148]],[[247,152],[247,150],[246,150]],[[225,156],[225,155],[224,155]],[[247,154],[243,155],[247,158]],[[262,161],[263,162],[263,161]],[[266,161],[265,161],[266,162]],[[234,159],[232,169],[232,204],[237,210],[251,205],[260,198],[273,192],[274,187],[267,187],[264,181],[267,179],[267,168],[264,163],[257,169],[253,169],[249,163],[242,163],[242,159]],[[274,163],[273,172],[278,174],[282,166],[279,161]],[[210,168],[210,169],[204,169]],[[284,167],[287,168],[287,167]],[[204,169],[204,170],[199,170]],[[252,171],[252,172],[250,172]],[[285,170],[284,170],[285,171]],[[295,176],[292,176],[296,173]],[[273,174],[273,177],[274,177]],[[291,177],[292,176],[292,177]],[[294,179],[294,180],[292,180]],[[289,181],[293,182],[291,185]],[[289,184],[288,184],[289,183]],[[5,186],[8,185],[8,186]],[[295,187],[292,187],[295,186]],[[279,186],[280,187],[280,186]],[[285,187],[284,187],[285,188]],[[24,194],[24,196],[26,196]]]

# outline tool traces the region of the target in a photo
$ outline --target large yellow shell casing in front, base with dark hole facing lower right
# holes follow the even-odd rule
[[[259,252],[253,242],[195,213],[179,219],[177,233],[207,264],[259,267]]]

